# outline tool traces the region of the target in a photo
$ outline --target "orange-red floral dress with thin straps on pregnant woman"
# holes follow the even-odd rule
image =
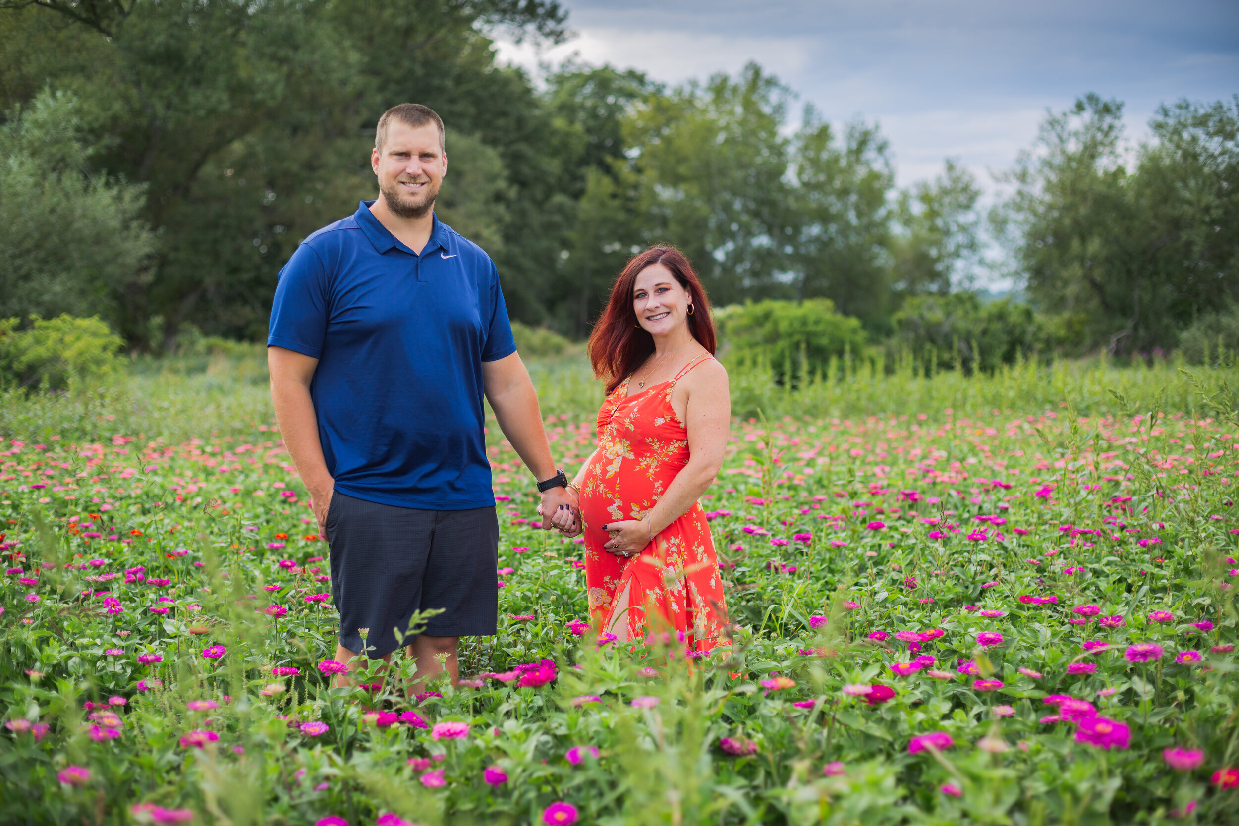
[[[700,503],[664,528],[641,554],[624,559],[602,546],[611,535],[607,523],[644,519],[688,464],[688,430],[672,409],[675,383],[704,359],[689,362],[670,381],[628,395],[631,376],[607,396],[598,410],[598,451],[581,485],[585,526],[585,581],[590,614],[603,630],[616,611],[627,608],[628,639],[646,634],[646,609],[659,612],[685,644],[706,651],[726,645],[722,627],[727,606],[719,576],[719,557]],[[628,588],[627,606],[620,604]]]

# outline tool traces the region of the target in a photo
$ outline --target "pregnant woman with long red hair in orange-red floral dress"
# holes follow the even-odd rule
[[[551,519],[567,534],[584,528],[590,613],[621,641],[665,627],[695,651],[726,644],[719,560],[698,503],[731,421],[714,349],[710,302],[688,259],[655,246],[628,261],[590,336],[607,399],[598,447],[569,485],[580,524],[571,509]]]

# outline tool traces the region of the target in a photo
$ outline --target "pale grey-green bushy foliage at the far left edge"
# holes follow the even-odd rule
[[[76,95],[45,90],[0,125],[0,317],[115,322],[124,296],[149,282],[144,187],[89,172],[100,150],[85,140],[82,109]]]

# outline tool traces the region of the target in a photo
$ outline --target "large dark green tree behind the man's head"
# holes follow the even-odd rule
[[[374,196],[374,124],[403,100],[439,109],[487,170],[484,181],[451,177],[449,212],[508,240],[504,215],[522,212],[512,206],[527,183],[512,137],[529,145],[538,108],[519,72],[494,71],[482,28],[558,37],[564,20],[544,0],[0,5],[9,31],[31,36],[5,47],[0,89],[27,94],[21,58],[33,58],[85,102],[83,123],[103,147],[92,168],[146,185],[142,215],[160,243],[150,284],[125,295],[119,322],[142,344],[155,317],[165,347],[186,321],[263,334],[275,272],[300,239]],[[50,46],[68,59],[40,57]]]

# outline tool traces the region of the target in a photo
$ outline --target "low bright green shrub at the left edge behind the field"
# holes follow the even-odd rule
[[[98,316],[30,320],[26,329],[17,318],[0,320],[0,383],[63,390],[115,370],[123,342]]]

